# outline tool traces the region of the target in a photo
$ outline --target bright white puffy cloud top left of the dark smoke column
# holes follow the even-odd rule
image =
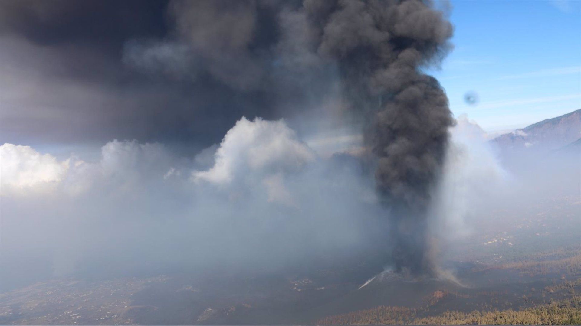
[[[313,162],[315,154],[283,120],[242,117],[224,136],[214,159],[214,166],[195,171],[193,180],[228,184],[248,171],[266,175],[295,171]]]

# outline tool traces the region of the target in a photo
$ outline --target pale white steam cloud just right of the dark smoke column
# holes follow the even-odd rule
[[[466,116],[450,129],[444,174],[435,200],[440,232],[447,237],[468,235],[467,219],[476,207],[502,189],[507,173],[491,148],[485,131]]]

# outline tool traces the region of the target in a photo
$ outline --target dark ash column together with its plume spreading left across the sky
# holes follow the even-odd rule
[[[9,104],[0,119],[6,141],[209,146],[242,115],[316,110],[339,80],[342,105],[363,122],[378,158],[396,267],[431,273],[426,207],[452,120],[442,89],[419,69],[443,58],[452,28],[430,3],[47,3],[0,3],[7,60],[51,87],[15,101],[25,108]],[[46,106],[52,114],[42,114]]]

